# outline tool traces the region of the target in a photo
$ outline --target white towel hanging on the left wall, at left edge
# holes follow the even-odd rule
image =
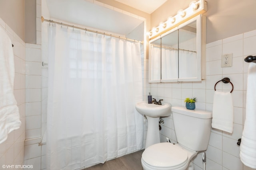
[[[14,55],[12,42],[0,26],[0,143],[20,127],[20,114],[14,98]]]

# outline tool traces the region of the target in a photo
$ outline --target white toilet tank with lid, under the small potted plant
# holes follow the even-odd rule
[[[172,116],[179,144],[195,151],[207,149],[212,127],[212,112],[172,107]]]

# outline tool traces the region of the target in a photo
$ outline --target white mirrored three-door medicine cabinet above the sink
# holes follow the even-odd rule
[[[205,16],[149,41],[149,82],[196,82],[205,76]]]

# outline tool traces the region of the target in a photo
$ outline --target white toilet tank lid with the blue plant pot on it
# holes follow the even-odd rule
[[[212,112],[204,111],[204,110],[200,110],[200,109],[190,110],[190,109],[186,109],[186,107],[175,106],[175,107],[172,107],[172,112],[180,113],[180,114],[188,115],[188,116],[192,116],[192,117],[198,117],[201,119],[212,118]]]

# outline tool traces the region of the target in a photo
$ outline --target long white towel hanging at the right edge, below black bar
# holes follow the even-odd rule
[[[246,166],[256,168],[256,63],[250,63],[247,78],[246,118],[240,159]]]

